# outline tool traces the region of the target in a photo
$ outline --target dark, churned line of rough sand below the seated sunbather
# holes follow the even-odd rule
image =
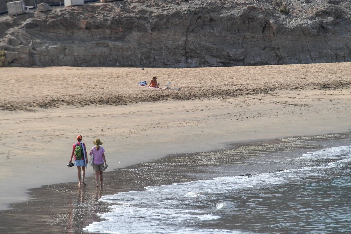
[[[140,90],[138,94],[118,94],[111,91],[107,91],[100,94],[94,95],[62,95],[57,97],[47,96],[42,99],[36,100],[25,100],[25,101],[0,101],[0,109],[7,111],[28,111],[35,112],[37,108],[58,108],[60,106],[93,106],[93,105],[128,105],[138,102],[158,102],[158,101],[170,101],[170,100],[192,100],[192,99],[212,99],[212,98],[233,98],[242,95],[249,94],[266,94],[274,90],[284,89],[300,89],[300,88],[315,88],[315,89],[336,89],[349,87],[351,81],[333,81],[329,82],[318,82],[318,83],[307,83],[305,85],[291,85],[286,87],[285,85],[274,84],[271,87],[264,88],[228,88],[234,87],[228,85],[225,88],[219,89],[206,89],[200,87],[188,87],[178,90],[154,90],[155,92],[143,92]],[[151,91],[151,90],[148,90]]]

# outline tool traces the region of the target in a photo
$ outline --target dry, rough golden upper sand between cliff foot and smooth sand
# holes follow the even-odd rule
[[[120,105],[141,101],[223,98],[274,89],[348,86],[351,63],[213,67],[145,68],[1,68],[0,109],[35,111],[35,107]],[[180,90],[137,86],[158,77]]]

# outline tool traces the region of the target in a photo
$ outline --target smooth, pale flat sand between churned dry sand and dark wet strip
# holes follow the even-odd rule
[[[83,135],[87,151],[93,146],[90,142],[100,138],[109,168],[123,168],[170,154],[221,149],[227,142],[347,132],[350,105],[350,89],[344,88],[34,113],[3,111],[1,143],[7,151],[0,154],[6,165],[0,177],[12,176],[0,182],[1,209],[26,201],[29,188],[75,181],[75,172],[66,164],[77,134]],[[76,126],[80,121],[85,126]],[[156,126],[147,125],[154,122]]]

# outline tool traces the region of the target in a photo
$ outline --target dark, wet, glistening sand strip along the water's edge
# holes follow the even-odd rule
[[[4,233],[85,233],[86,225],[99,221],[98,213],[108,212],[109,204],[99,201],[103,195],[218,176],[238,176],[273,172],[274,165],[253,166],[248,159],[293,159],[300,154],[349,142],[351,134],[298,136],[280,140],[232,143],[221,151],[174,154],[164,158],[104,173],[105,187],[94,187],[93,177],[87,186],[60,183],[30,189],[28,202],[13,204],[13,209],[0,211],[0,230]],[[213,159],[213,152],[221,153]],[[230,159],[227,154],[230,153]],[[237,155],[237,156],[236,156]],[[218,162],[220,164],[218,164]],[[236,170],[214,173],[211,168],[232,165]],[[232,169],[232,168],[231,168]],[[12,225],[13,223],[13,225]]]

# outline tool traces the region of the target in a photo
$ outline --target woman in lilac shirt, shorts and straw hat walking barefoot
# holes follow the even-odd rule
[[[94,155],[93,159],[93,168],[95,172],[95,181],[96,181],[96,187],[99,187],[98,179],[100,175],[100,186],[104,186],[102,183],[103,177],[102,177],[102,172],[104,171],[104,166],[106,166],[106,158],[105,158],[105,149],[101,147],[102,141],[100,141],[99,138],[97,138],[95,141],[93,141],[93,144],[95,145],[93,148],[91,148],[91,151],[89,155]]]

